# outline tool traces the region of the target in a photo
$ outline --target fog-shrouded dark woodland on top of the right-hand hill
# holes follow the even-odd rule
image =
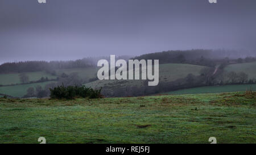
[[[217,64],[256,61],[254,55],[238,55],[238,51],[193,49],[187,51],[163,51],[134,57],[138,60],[159,60],[159,64],[193,64],[214,67]],[[240,51],[241,53],[241,51]]]

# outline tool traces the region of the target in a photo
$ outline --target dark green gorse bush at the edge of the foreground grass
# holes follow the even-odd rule
[[[93,90],[91,87],[85,86],[56,86],[51,91],[51,98],[56,99],[74,99],[75,97],[82,98],[102,98],[101,89]]]

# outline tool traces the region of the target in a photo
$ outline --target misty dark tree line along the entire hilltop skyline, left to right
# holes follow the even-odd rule
[[[249,57],[249,55],[251,57]],[[117,56],[117,59],[128,60],[130,56]],[[7,62],[0,65],[1,73],[22,73],[46,71],[55,74],[55,69],[88,68],[97,66],[100,59],[109,60],[105,57],[86,57],[75,61],[22,61]],[[255,52],[229,51],[229,50],[206,50],[192,49],[187,51],[163,51],[136,56],[131,59],[159,60],[160,64],[183,63],[213,67],[216,62],[252,62],[256,61]],[[229,60],[230,59],[230,60]]]

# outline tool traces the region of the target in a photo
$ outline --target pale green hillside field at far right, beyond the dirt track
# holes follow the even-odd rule
[[[244,72],[248,74],[249,79],[256,78],[256,62],[228,65],[226,66],[225,71],[236,73]]]

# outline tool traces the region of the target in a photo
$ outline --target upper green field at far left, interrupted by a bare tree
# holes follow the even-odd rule
[[[26,75],[29,77],[29,81],[37,81],[40,78],[48,77],[48,79],[56,78],[56,76],[51,76],[46,72],[27,72]],[[0,85],[11,85],[21,83],[19,80],[19,73],[12,74],[0,74]]]

